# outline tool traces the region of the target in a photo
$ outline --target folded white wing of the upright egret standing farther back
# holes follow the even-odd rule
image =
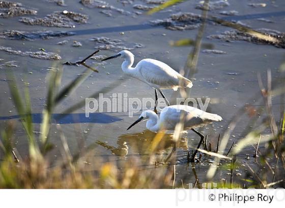
[[[180,76],[173,68],[167,64],[154,60],[144,59],[138,62],[141,76],[151,84],[159,86],[177,86]]]

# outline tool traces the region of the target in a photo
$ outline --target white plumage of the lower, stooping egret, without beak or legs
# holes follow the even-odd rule
[[[180,121],[180,116],[185,113],[184,129],[194,128],[213,121],[221,121],[217,114],[207,113],[190,106],[174,105],[164,108],[160,113],[160,118],[153,111],[144,111],[140,117],[147,121],[147,128],[157,132],[160,129],[174,130]]]

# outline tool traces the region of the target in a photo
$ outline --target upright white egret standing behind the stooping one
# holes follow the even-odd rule
[[[157,90],[169,106],[169,101],[162,93],[162,89],[173,89],[176,91],[179,87],[191,88],[193,86],[190,80],[180,75],[172,67],[155,59],[146,58],[140,60],[135,67],[132,67],[134,55],[127,50],[123,50],[114,56],[104,58],[102,61],[117,57],[125,59],[122,63],[122,70],[125,74],[143,81],[155,89],[155,103],[158,99]]]

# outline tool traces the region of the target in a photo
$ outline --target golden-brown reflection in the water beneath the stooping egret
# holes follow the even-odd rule
[[[130,149],[132,151],[132,154],[144,156],[150,154],[151,145],[155,136],[156,133],[150,130],[144,130],[143,132],[137,133],[122,134],[118,138],[117,148],[109,146],[101,141],[97,141],[96,143],[105,149],[110,150],[112,154],[115,154],[117,156],[126,156],[129,153]],[[161,156],[162,160],[165,155],[169,154],[174,147],[174,144],[175,142],[173,141],[172,134],[164,134],[161,142],[156,148],[155,153],[157,154],[158,158]],[[187,138],[181,138],[176,147],[183,150],[188,150]]]

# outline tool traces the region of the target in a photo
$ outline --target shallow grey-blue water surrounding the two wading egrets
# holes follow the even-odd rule
[[[178,41],[180,39],[194,39],[197,34],[197,29],[191,30],[169,30],[163,26],[153,26],[150,21],[157,19],[167,19],[172,14],[178,12],[191,12],[201,14],[201,10],[195,9],[200,1],[186,1],[182,4],[165,9],[165,11],[155,13],[153,15],[145,15],[136,13],[133,8],[135,4],[147,5],[145,1],[135,0],[133,4],[123,5],[118,1],[108,1],[108,3],[117,8],[108,10],[93,7],[85,7],[78,1],[65,1],[66,6],[62,7],[56,4],[48,3],[47,1],[18,1],[26,8],[36,9],[37,15],[24,16],[31,18],[43,18],[54,11],[71,11],[81,13],[89,17],[86,24],[74,23],[74,28],[60,27],[45,27],[40,25],[26,25],[19,21],[21,17],[1,18],[0,32],[5,30],[19,30],[27,33],[39,34],[39,31],[65,31],[72,32],[72,36],[44,38],[36,36],[32,40],[17,40],[17,39],[0,39],[0,47],[11,47],[13,50],[21,50],[22,52],[36,52],[44,49],[45,52],[59,54],[63,63],[65,61],[77,61],[94,52],[97,48],[108,49],[101,50],[97,55],[110,56],[115,54],[115,51],[123,48],[132,49],[135,54],[135,64],[143,58],[151,57],[161,60],[179,71],[183,68],[187,59],[190,47],[172,47],[170,41]],[[224,20],[240,21],[241,23],[250,26],[253,29],[268,28],[285,32],[285,2],[265,1],[266,7],[248,6],[251,3],[260,3],[259,1],[228,1],[229,6],[225,6],[219,10],[209,11],[209,15],[221,17]],[[155,5],[147,5],[155,6]],[[123,9],[127,12],[120,12]],[[221,11],[235,10],[238,13],[235,16],[221,15]],[[101,12],[100,12],[101,11]],[[141,11],[140,11],[141,12]],[[260,18],[270,20],[261,21]],[[245,41],[224,42],[218,39],[208,39],[207,37],[221,34],[224,31],[231,30],[225,26],[208,22],[203,43],[211,44],[212,50],[222,51],[225,53],[201,52],[195,80],[193,80],[193,88],[191,97],[210,97],[211,102],[208,112],[219,114],[223,121],[209,124],[206,128],[201,128],[204,134],[208,134],[208,140],[213,146],[216,146],[217,137],[222,133],[233,116],[235,116],[246,102],[253,103],[259,106],[260,102],[254,100],[254,95],[259,93],[259,85],[257,73],[261,73],[263,80],[266,80],[266,72],[268,69],[272,72],[272,83],[279,81],[280,72],[279,65],[284,60],[284,50],[270,45],[253,44]],[[105,37],[111,40],[119,40],[119,42],[111,42],[106,46],[105,42],[98,41],[98,38]],[[94,41],[94,40],[97,40]],[[100,39],[103,40],[103,39]],[[59,42],[67,41],[65,44]],[[80,42],[81,47],[73,47],[74,41]],[[112,47],[112,46],[114,47]],[[4,128],[5,124],[10,120],[18,120],[18,115],[13,102],[10,99],[11,95],[8,88],[8,82],[5,71],[13,71],[17,78],[18,85],[22,88],[24,85],[29,86],[33,107],[33,118],[35,126],[39,131],[39,122],[41,121],[41,112],[45,106],[46,97],[46,82],[50,67],[54,64],[51,60],[37,59],[29,56],[20,56],[9,54],[0,50],[0,61],[3,64],[8,61],[16,61],[15,66],[0,66],[0,126]],[[0,59],[0,60],[1,60]],[[67,107],[82,100],[94,92],[99,91],[103,87],[108,86],[113,81],[121,79],[123,72],[121,70],[121,59],[112,59],[102,64],[100,60],[88,60],[89,65],[95,66],[99,73],[93,73],[82,85],[76,89],[70,96],[64,99],[56,108],[55,114],[62,113]],[[77,75],[84,72],[83,66],[68,66],[64,65],[64,74],[62,78],[62,87],[75,79]],[[166,97],[170,98],[173,91],[164,90]],[[125,82],[117,86],[115,89],[104,94],[104,97],[112,96],[112,93],[128,93],[128,97],[144,97],[153,98],[153,89],[142,82],[137,82],[133,78],[127,78]],[[254,104],[256,103],[256,104]],[[279,119],[279,107],[283,103],[276,98],[273,98],[273,107],[277,120]],[[107,113],[104,106],[103,113],[93,114],[91,122],[84,118],[84,107],[77,110],[71,115],[68,115],[64,120],[56,120],[52,126],[52,143],[55,148],[50,152],[50,158],[56,163],[55,158],[60,158],[61,155],[61,140],[59,132],[56,128],[57,124],[62,124],[61,127],[66,135],[71,152],[76,153],[80,149],[80,142],[83,146],[88,146],[93,143],[99,145],[94,151],[94,156],[103,156],[106,160],[128,160],[131,157],[141,158],[149,153],[147,147],[152,142],[154,133],[145,130],[145,124],[136,125],[129,131],[127,127],[133,123],[140,113],[135,113],[133,118],[129,118],[126,113]],[[56,116],[56,115],[54,115]],[[248,120],[247,116],[242,118]],[[280,120],[280,119],[279,119]],[[27,154],[27,144],[24,137],[24,131],[18,123],[16,132],[16,148],[24,157]],[[231,135],[229,148],[233,141],[239,141],[244,135],[242,134],[247,123],[242,122]],[[38,133],[35,132],[35,133]],[[158,149],[159,158],[161,161],[167,157],[167,154],[172,150],[172,142],[170,135],[165,138],[165,146]],[[177,180],[183,179],[185,183],[194,183],[195,175],[191,168],[188,168],[186,154],[188,146],[197,145],[199,138],[196,134],[189,131],[183,135],[180,146],[177,148],[178,159],[177,163]],[[263,148],[264,145],[261,145]],[[254,158],[250,156],[246,160],[246,154],[252,155],[254,148],[248,147],[239,155],[241,161],[254,163]],[[118,155],[118,156],[117,156]],[[56,156],[56,157],[54,157]],[[211,164],[213,158],[205,157],[201,164],[196,164],[196,175],[200,182],[206,180],[205,173]],[[152,165],[150,165],[152,167]],[[220,170],[216,175],[216,179],[225,178],[229,180],[229,171]]]

